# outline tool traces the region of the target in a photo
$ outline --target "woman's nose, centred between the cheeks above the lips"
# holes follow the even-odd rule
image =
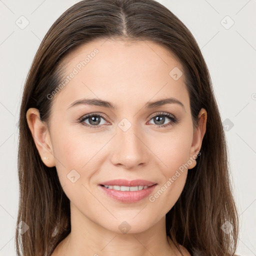
[[[131,125],[126,131],[117,127],[110,149],[112,164],[132,169],[148,162],[150,150],[142,132],[136,125]]]

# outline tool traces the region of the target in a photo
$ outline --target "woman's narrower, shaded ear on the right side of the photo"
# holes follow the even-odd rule
[[[190,162],[192,162],[188,169],[192,169],[196,165],[195,158],[197,157],[198,152],[200,151],[202,139],[206,131],[206,120],[207,112],[204,108],[201,108],[198,116],[198,125],[193,133],[193,141],[190,148]]]

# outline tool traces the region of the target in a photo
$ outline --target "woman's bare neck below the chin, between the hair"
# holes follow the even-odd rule
[[[167,238],[165,217],[142,232],[117,233],[105,229],[85,217],[70,204],[71,232],[63,239],[51,256],[152,256],[178,255],[173,242]]]

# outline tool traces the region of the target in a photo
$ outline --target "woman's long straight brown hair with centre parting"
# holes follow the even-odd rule
[[[117,37],[150,40],[172,52],[184,70],[193,124],[197,124],[202,107],[207,111],[201,154],[197,165],[188,171],[177,202],[166,214],[166,234],[191,254],[233,255],[238,217],[229,181],[225,134],[210,75],[191,32],[154,0],[83,0],[61,14],[44,36],[27,75],[20,107],[17,224],[24,221],[29,228],[23,234],[16,231],[17,254],[48,256],[71,230],[69,199],[55,166],[47,167],[41,161],[26,111],[29,107],[39,109],[40,119],[47,123],[52,105],[47,95],[64,74],[63,57],[91,40]],[[226,226],[230,232],[223,228]]]

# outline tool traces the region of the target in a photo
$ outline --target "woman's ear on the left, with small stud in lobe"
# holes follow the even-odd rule
[[[33,107],[29,108],[26,111],[26,120],[43,163],[48,167],[55,166],[48,127],[41,121],[39,110]]]

